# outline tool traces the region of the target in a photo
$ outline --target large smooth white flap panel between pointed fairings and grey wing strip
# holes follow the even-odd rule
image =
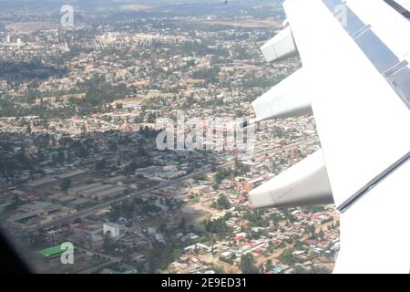
[[[409,111],[322,0],[287,0],[284,7],[311,77],[308,91],[340,206],[409,151]]]

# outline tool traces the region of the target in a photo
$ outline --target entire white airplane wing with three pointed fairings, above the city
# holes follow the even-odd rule
[[[334,272],[408,273],[408,1],[283,6],[288,26],[261,50],[268,61],[297,52],[302,69],[252,103],[257,117],[250,122],[312,110],[322,151],[253,190],[251,201],[256,207],[333,201],[342,213]]]

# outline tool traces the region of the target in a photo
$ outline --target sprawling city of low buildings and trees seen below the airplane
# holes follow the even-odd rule
[[[321,148],[313,116],[262,121],[251,155],[218,139],[156,142],[179,110],[204,125],[253,118],[251,101],[301,68],[261,56],[282,1],[74,5],[68,27],[58,9],[0,12],[1,227],[36,271],[332,272],[334,205],[260,210],[249,198]],[[74,265],[60,261],[67,242]]]

